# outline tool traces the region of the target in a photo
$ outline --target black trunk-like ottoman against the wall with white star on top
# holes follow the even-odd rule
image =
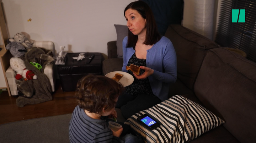
[[[88,74],[102,75],[102,61],[101,53],[85,53],[85,59],[82,61],[74,60],[73,57],[78,57],[80,53],[66,54],[65,65],[58,65],[58,74],[63,91],[75,91],[76,84],[79,79]],[[94,58],[89,64],[86,61],[94,54]]]

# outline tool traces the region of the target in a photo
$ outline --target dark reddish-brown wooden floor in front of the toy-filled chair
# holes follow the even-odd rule
[[[75,92],[63,92],[57,82],[51,101],[18,107],[17,97],[9,97],[8,92],[4,91],[0,94],[0,124],[72,113],[77,105],[74,94]]]

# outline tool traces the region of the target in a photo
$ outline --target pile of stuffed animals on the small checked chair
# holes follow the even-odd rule
[[[6,49],[10,50],[12,56],[10,59],[10,65],[13,70],[17,72],[16,79],[21,79],[22,77],[27,79],[37,79],[37,76],[30,70],[26,69],[24,61],[19,57],[23,56],[29,48],[32,47],[30,41],[26,40],[26,37],[22,33],[17,33],[14,38],[8,39]]]

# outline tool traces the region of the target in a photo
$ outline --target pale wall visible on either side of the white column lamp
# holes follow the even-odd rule
[[[188,29],[194,30],[194,1],[184,0],[184,12],[183,12],[183,26]],[[217,23],[219,18],[220,3],[222,0],[215,0],[214,20],[213,20],[213,39],[217,30]]]

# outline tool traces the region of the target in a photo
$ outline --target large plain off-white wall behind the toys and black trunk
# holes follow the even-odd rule
[[[49,40],[55,49],[100,52],[116,40],[114,24],[126,25],[123,10],[135,0],[2,0],[10,37],[25,32]],[[28,22],[27,20],[32,19]]]

